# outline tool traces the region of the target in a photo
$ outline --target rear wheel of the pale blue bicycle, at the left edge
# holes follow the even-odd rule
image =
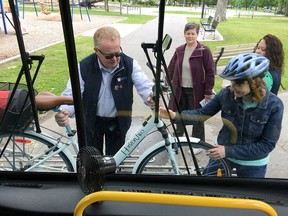
[[[7,142],[9,135],[0,135],[0,151]],[[27,171],[31,166],[49,156],[58,148],[50,141],[28,133],[12,135],[2,157],[1,171]],[[36,158],[44,153],[43,157]],[[37,156],[38,155],[38,156]],[[31,172],[75,172],[65,152],[59,152],[43,164],[29,170]]]

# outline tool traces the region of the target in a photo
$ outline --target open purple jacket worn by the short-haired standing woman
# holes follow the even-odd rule
[[[179,103],[182,90],[182,62],[186,44],[176,48],[175,53],[168,66],[168,74],[172,80],[172,87],[177,102]],[[211,50],[203,44],[197,42],[197,47],[190,59],[190,72],[193,80],[194,89],[194,108],[200,108],[199,102],[204,95],[212,95],[215,80],[215,67]],[[169,101],[169,109],[177,111],[174,98]]]

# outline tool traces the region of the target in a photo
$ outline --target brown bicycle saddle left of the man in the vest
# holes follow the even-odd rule
[[[63,104],[73,104],[71,96],[57,96],[51,92],[40,92],[35,97],[36,107],[40,111],[50,110]]]

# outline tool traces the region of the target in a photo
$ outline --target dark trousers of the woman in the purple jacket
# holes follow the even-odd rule
[[[194,109],[194,95],[193,88],[182,87],[182,95],[179,103],[180,111]],[[183,136],[184,127],[181,123],[176,124],[176,133],[178,136]],[[205,126],[204,122],[200,122],[198,125],[193,125],[192,137],[199,138],[205,141]]]

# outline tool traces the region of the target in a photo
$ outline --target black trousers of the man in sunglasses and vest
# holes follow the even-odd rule
[[[95,140],[92,145],[102,155],[105,141],[105,155],[114,155],[125,143],[125,135],[121,134],[118,118],[96,117]]]

